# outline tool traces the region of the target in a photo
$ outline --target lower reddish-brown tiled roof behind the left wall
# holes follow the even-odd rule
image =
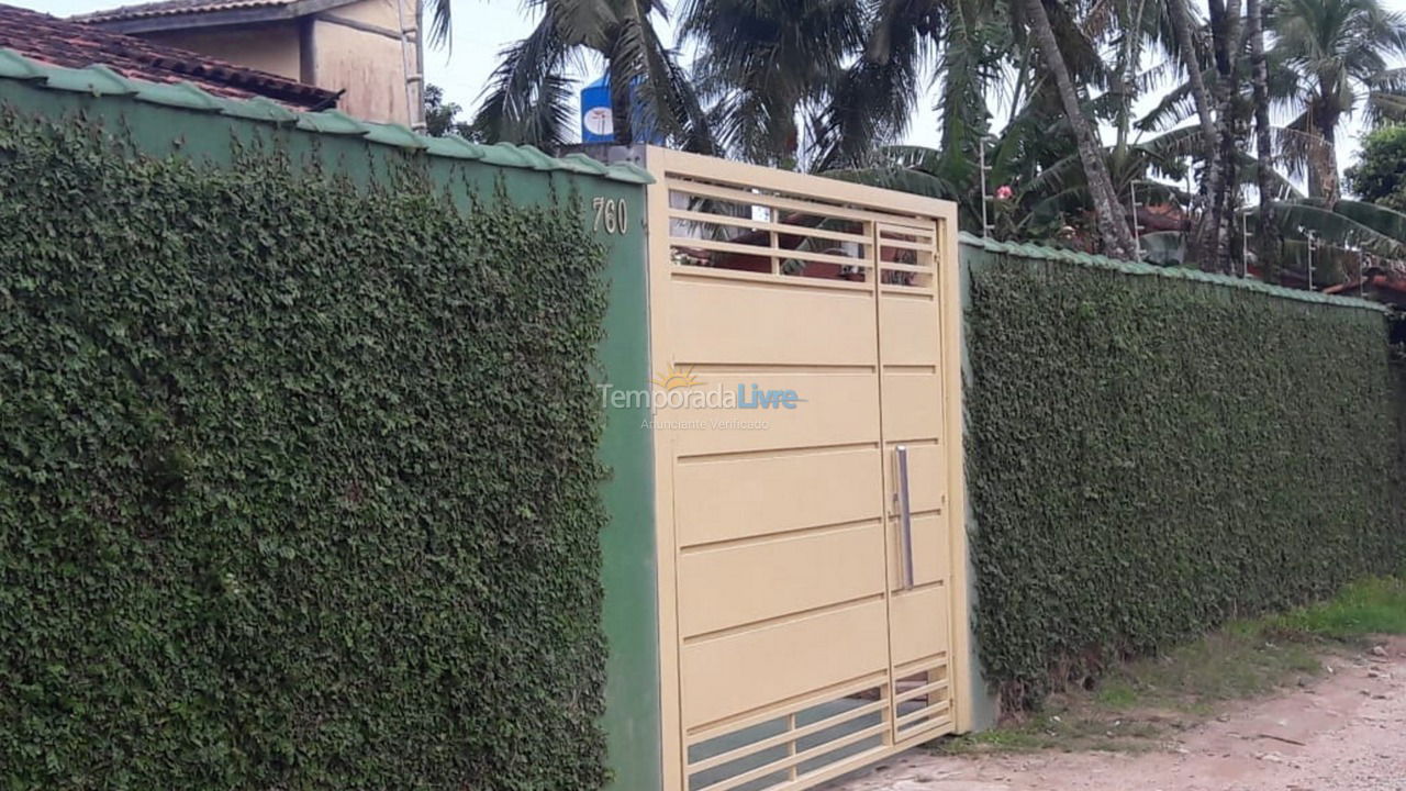
[[[55,66],[82,69],[98,63],[138,80],[188,82],[215,96],[263,96],[297,110],[326,110],[336,106],[339,96],[269,72],[14,6],[0,4],[0,46]]]

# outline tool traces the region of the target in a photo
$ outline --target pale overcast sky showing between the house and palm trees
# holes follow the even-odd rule
[[[128,4],[124,0],[0,0],[56,15],[79,14],[100,8]],[[1385,6],[1406,11],[1406,0],[1382,0]],[[671,3],[671,7],[678,3]],[[446,99],[471,110],[484,84],[488,82],[498,61],[498,52],[509,42],[527,35],[536,23],[536,15],[524,11],[519,0],[456,0],[454,35],[449,48],[430,48],[425,53],[425,70],[430,83],[444,89]],[[664,27],[665,34],[671,31]],[[581,65],[578,77],[595,79],[602,65],[586,62]],[[1146,104],[1154,104],[1149,97]],[[910,124],[907,141],[917,145],[938,144],[938,121],[931,100],[922,101],[918,114]],[[467,115],[468,113],[465,113]],[[1360,120],[1348,124],[1347,135],[1340,138],[1339,160],[1346,166],[1353,162],[1358,149],[1361,132]]]

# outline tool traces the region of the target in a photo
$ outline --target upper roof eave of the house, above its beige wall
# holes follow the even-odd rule
[[[159,0],[72,17],[124,32],[294,20],[356,0]]]

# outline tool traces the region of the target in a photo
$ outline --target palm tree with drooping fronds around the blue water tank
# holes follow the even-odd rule
[[[453,6],[427,0],[434,41],[449,41]],[[565,142],[572,122],[565,69],[572,58],[595,53],[610,75],[617,142],[634,142],[634,127],[643,125],[679,148],[713,151],[693,86],[654,28],[668,18],[662,0],[529,0],[527,7],[541,20],[502,51],[471,122],[475,137],[541,148]]]

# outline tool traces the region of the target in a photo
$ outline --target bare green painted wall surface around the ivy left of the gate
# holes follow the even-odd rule
[[[51,83],[65,90],[45,89],[44,80],[25,75],[25,69],[49,75]],[[344,176],[359,184],[398,177],[409,160],[422,163],[433,183],[463,208],[470,205],[471,196],[491,196],[502,184],[517,203],[579,201],[583,221],[595,227],[595,198],[624,201],[630,218],[624,232],[598,231],[609,251],[606,276],[610,283],[599,376],[613,387],[648,387],[645,242],[640,222],[644,179],[640,173],[613,169],[609,177],[591,175],[592,165],[554,160],[534,149],[512,146],[482,146],[481,158],[468,159],[453,153],[461,144],[415,138],[398,127],[360,124],[336,114],[304,115],[297,121],[322,129],[312,131],[298,128],[288,118],[267,122],[229,115],[257,114],[263,111],[257,104],[193,96],[179,86],[141,83],[129,83],[141,87],[139,96],[131,90],[124,94],[121,84],[104,80],[104,73],[46,69],[0,58],[0,108],[49,118],[83,114],[107,128],[125,129],[122,139],[129,139],[134,153],[139,155],[179,155],[228,165],[239,146],[266,148],[308,169]],[[96,96],[94,91],[112,93]],[[181,107],[181,101],[197,108]],[[287,115],[278,108],[269,110],[270,117],[280,117],[280,113]],[[377,139],[385,142],[374,142]],[[422,149],[425,145],[432,146],[430,153]],[[641,428],[644,412],[612,410],[599,449],[600,460],[612,470],[603,491],[610,524],[600,545],[602,624],[609,645],[602,725],[609,745],[612,787],[620,791],[648,791],[661,785],[654,464],[650,435]]]

